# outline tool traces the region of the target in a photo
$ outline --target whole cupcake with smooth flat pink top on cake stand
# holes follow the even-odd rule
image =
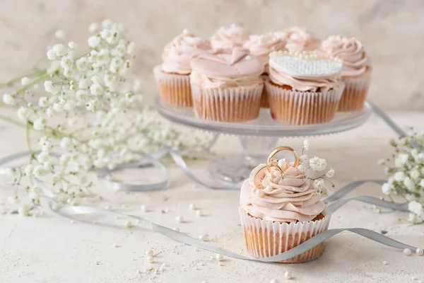
[[[192,59],[196,117],[222,122],[253,120],[259,115],[264,64],[236,47],[231,54],[204,52]]]

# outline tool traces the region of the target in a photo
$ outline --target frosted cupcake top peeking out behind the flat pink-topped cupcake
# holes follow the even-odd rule
[[[220,28],[211,36],[213,50],[231,53],[235,47],[242,47],[249,40],[250,32],[234,23],[230,28]]]

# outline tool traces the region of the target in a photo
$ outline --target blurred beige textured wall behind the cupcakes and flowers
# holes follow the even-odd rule
[[[55,30],[83,42],[90,23],[111,18],[136,42],[135,71],[153,98],[151,69],[183,28],[208,37],[231,23],[252,33],[301,25],[320,37],[358,37],[375,66],[370,98],[385,109],[423,110],[423,14],[423,0],[1,0],[0,81],[37,62]]]

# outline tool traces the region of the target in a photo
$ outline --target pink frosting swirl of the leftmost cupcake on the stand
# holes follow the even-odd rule
[[[181,35],[168,43],[162,54],[162,70],[167,73],[190,74],[190,59],[198,52],[211,50],[211,43],[184,30]]]

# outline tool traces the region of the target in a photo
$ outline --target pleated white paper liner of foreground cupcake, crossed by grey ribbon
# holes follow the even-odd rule
[[[274,222],[249,216],[239,207],[247,253],[254,258],[268,258],[299,246],[329,228],[331,214],[322,212],[324,218],[307,222]],[[282,263],[306,262],[322,254],[324,243]]]

